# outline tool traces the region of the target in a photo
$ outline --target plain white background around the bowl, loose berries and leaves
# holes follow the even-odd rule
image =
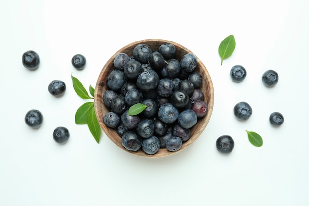
[[[177,3],[176,3],[177,2]],[[0,205],[1,206],[308,206],[308,0],[6,0],[0,6]],[[232,56],[220,66],[218,46],[236,39]],[[100,144],[74,115],[86,100],[77,96],[71,74],[95,86],[105,62],[123,46],[142,39],[175,41],[208,69],[215,105],[202,135],[184,151],[143,158],[118,148],[105,134]],[[39,68],[23,67],[22,54],[36,51]],[[71,65],[73,55],[86,68]],[[241,83],[230,69],[247,70]],[[267,88],[264,71],[279,82]],[[55,98],[55,79],[67,90]],[[247,101],[248,121],[233,115]],[[44,123],[24,123],[30,109]],[[281,112],[279,128],[269,123]],[[57,144],[53,130],[65,126],[70,139]],[[262,147],[250,144],[245,130],[259,133]],[[229,155],[216,139],[231,135]]]

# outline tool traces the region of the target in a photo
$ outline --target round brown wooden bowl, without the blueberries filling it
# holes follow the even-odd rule
[[[202,82],[200,89],[203,91],[203,93],[205,95],[205,102],[208,105],[208,112],[207,112],[205,117],[199,118],[197,124],[195,124],[191,128],[191,137],[186,142],[183,142],[181,149],[179,149],[178,151],[175,151],[175,152],[170,152],[166,148],[160,148],[159,151],[154,155],[148,155],[142,149],[140,149],[138,151],[127,150],[126,148],[124,148],[122,146],[121,137],[117,134],[116,129],[111,129],[111,128],[107,127],[103,122],[104,115],[109,111],[109,108],[107,108],[105,106],[104,102],[103,102],[103,94],[107,90],[107,86],[106,86],[107,77],[108,77],[109,73],[113,69],[115,69],[113,61],[115,59],[116,54],[118,54],[120,52],[124,52],[124,53],[128,54],[129,56],[132,56],[132,52],[133,52],[134,47],[136,45],[140,44],[140,43],[144,43],[144,44],[149,45],[152,48],[153,51],[158,50],[159,46],[162,45],[162,44],[171,43],[176,47],[176,59],[178,59],[178,60],[180,60],[181,57],[183,55],[187,54],[187,53],[193,53],[189,49],[185,48],[184,46],[182,46],[178,43],[175,43],[175,42],[172,42],[172,41],[167,41],[167,40],[160,40],[160,39],[146,39],[146,40],[136,41],[136,42],[128,44],[127,46],[124,46],[123,48],[118,50],[106,62],[106,64],[104,65],[103,69],[100,72],[100,75],[98,77],[98,81],[96,83],[95,94],[94,94],[95,113],[96,113],[97,119],[100,123],[100,126],[103,129],[103,131],[105,132],[105,134],[121,149],[123,149],[123,150],[125,150],[125,151],[127,151],[131,154],[143,156],[143,157],[163,157],[163,156],[172,155],[172,154],[180,152],[180,151],[186,149],[187,147],[189,147],[189,145],[191,145],[201,135],[201,133],[204,131],[206,125],[208,124],[208,122],[210,120],[211,113],[212,113],[212,110],[213,110],[213,105],[214,105],[213,84],[212,84],[210,75],[209,75],[206,67],[200,61],[200,59],[198,59],[198,57],[197,57],[198,61],[197,61],[197,67],[196,67],[195,71],[199,72],[201,74],[202,78],[203,78],[203,82]]]

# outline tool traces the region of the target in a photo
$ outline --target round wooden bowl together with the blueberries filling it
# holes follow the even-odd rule
[[[119,53],[127,54],[122,54],[121,58],[126,62],[118,62],[116,68],[114,61],[119,58]],[[130,60],[127,60],[127,56]],[[138,63],[129,61],[140,62],[143,69]],[[128,64],[127,67],[125,64]],[[188,82],[188,78],[194,80],[193,84]],[[134,90],[134,93],[130,90]],[[112,99],[116,96],[127,99],[127,109],[118,114],[120,121],[111,128],[104,123],[104,117],[111,112]],[[197,96],[207,105],[203,117],[197,117],[194,110],[190,109]],[[144,103],[147,108],[130,116],[128,109],[133,102]],[[213,105],[213,84],[204,64],[189,49],[168,40],[140,40],[119,49],[102,68],[95,86],[94,109],[102,130],[119,148],[141,157],[169,156],[189,147],[206,128]],[[175,135],[171,132],[176,124],[178,127],[181,125],[178,124],[179,114],[182,114],[181,124],[187,127],[179,129],[186,131],[186,135],[184,132],[175,132]],[[186,117],[191,115],[192,122],[186,122]],[[123,131],[121,135],[119,127]],[[122,139],[123,136],[125,139]],[[165,136],[167,138],[163,138]]]

